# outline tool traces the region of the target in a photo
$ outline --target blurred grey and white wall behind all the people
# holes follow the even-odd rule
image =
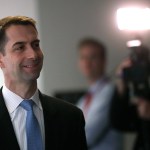
[[[108,73],[127,56],[126,41],[132,34],[120,31],[116,10],[124,6],[150,7],[149,0],[0,0],[0,18],[26,15],[37,21],[41,48],[45,54],[44,68],[39,78],[42,92],[84,89],[85,79],[77,68],[77,43],[82,37],[94,36],[108,48]],[[141,33],[149,45],[150,34]],[[3,84],[0,72],[0,85]],[[132,149],[134,134],[124,134],[124,150]]]

